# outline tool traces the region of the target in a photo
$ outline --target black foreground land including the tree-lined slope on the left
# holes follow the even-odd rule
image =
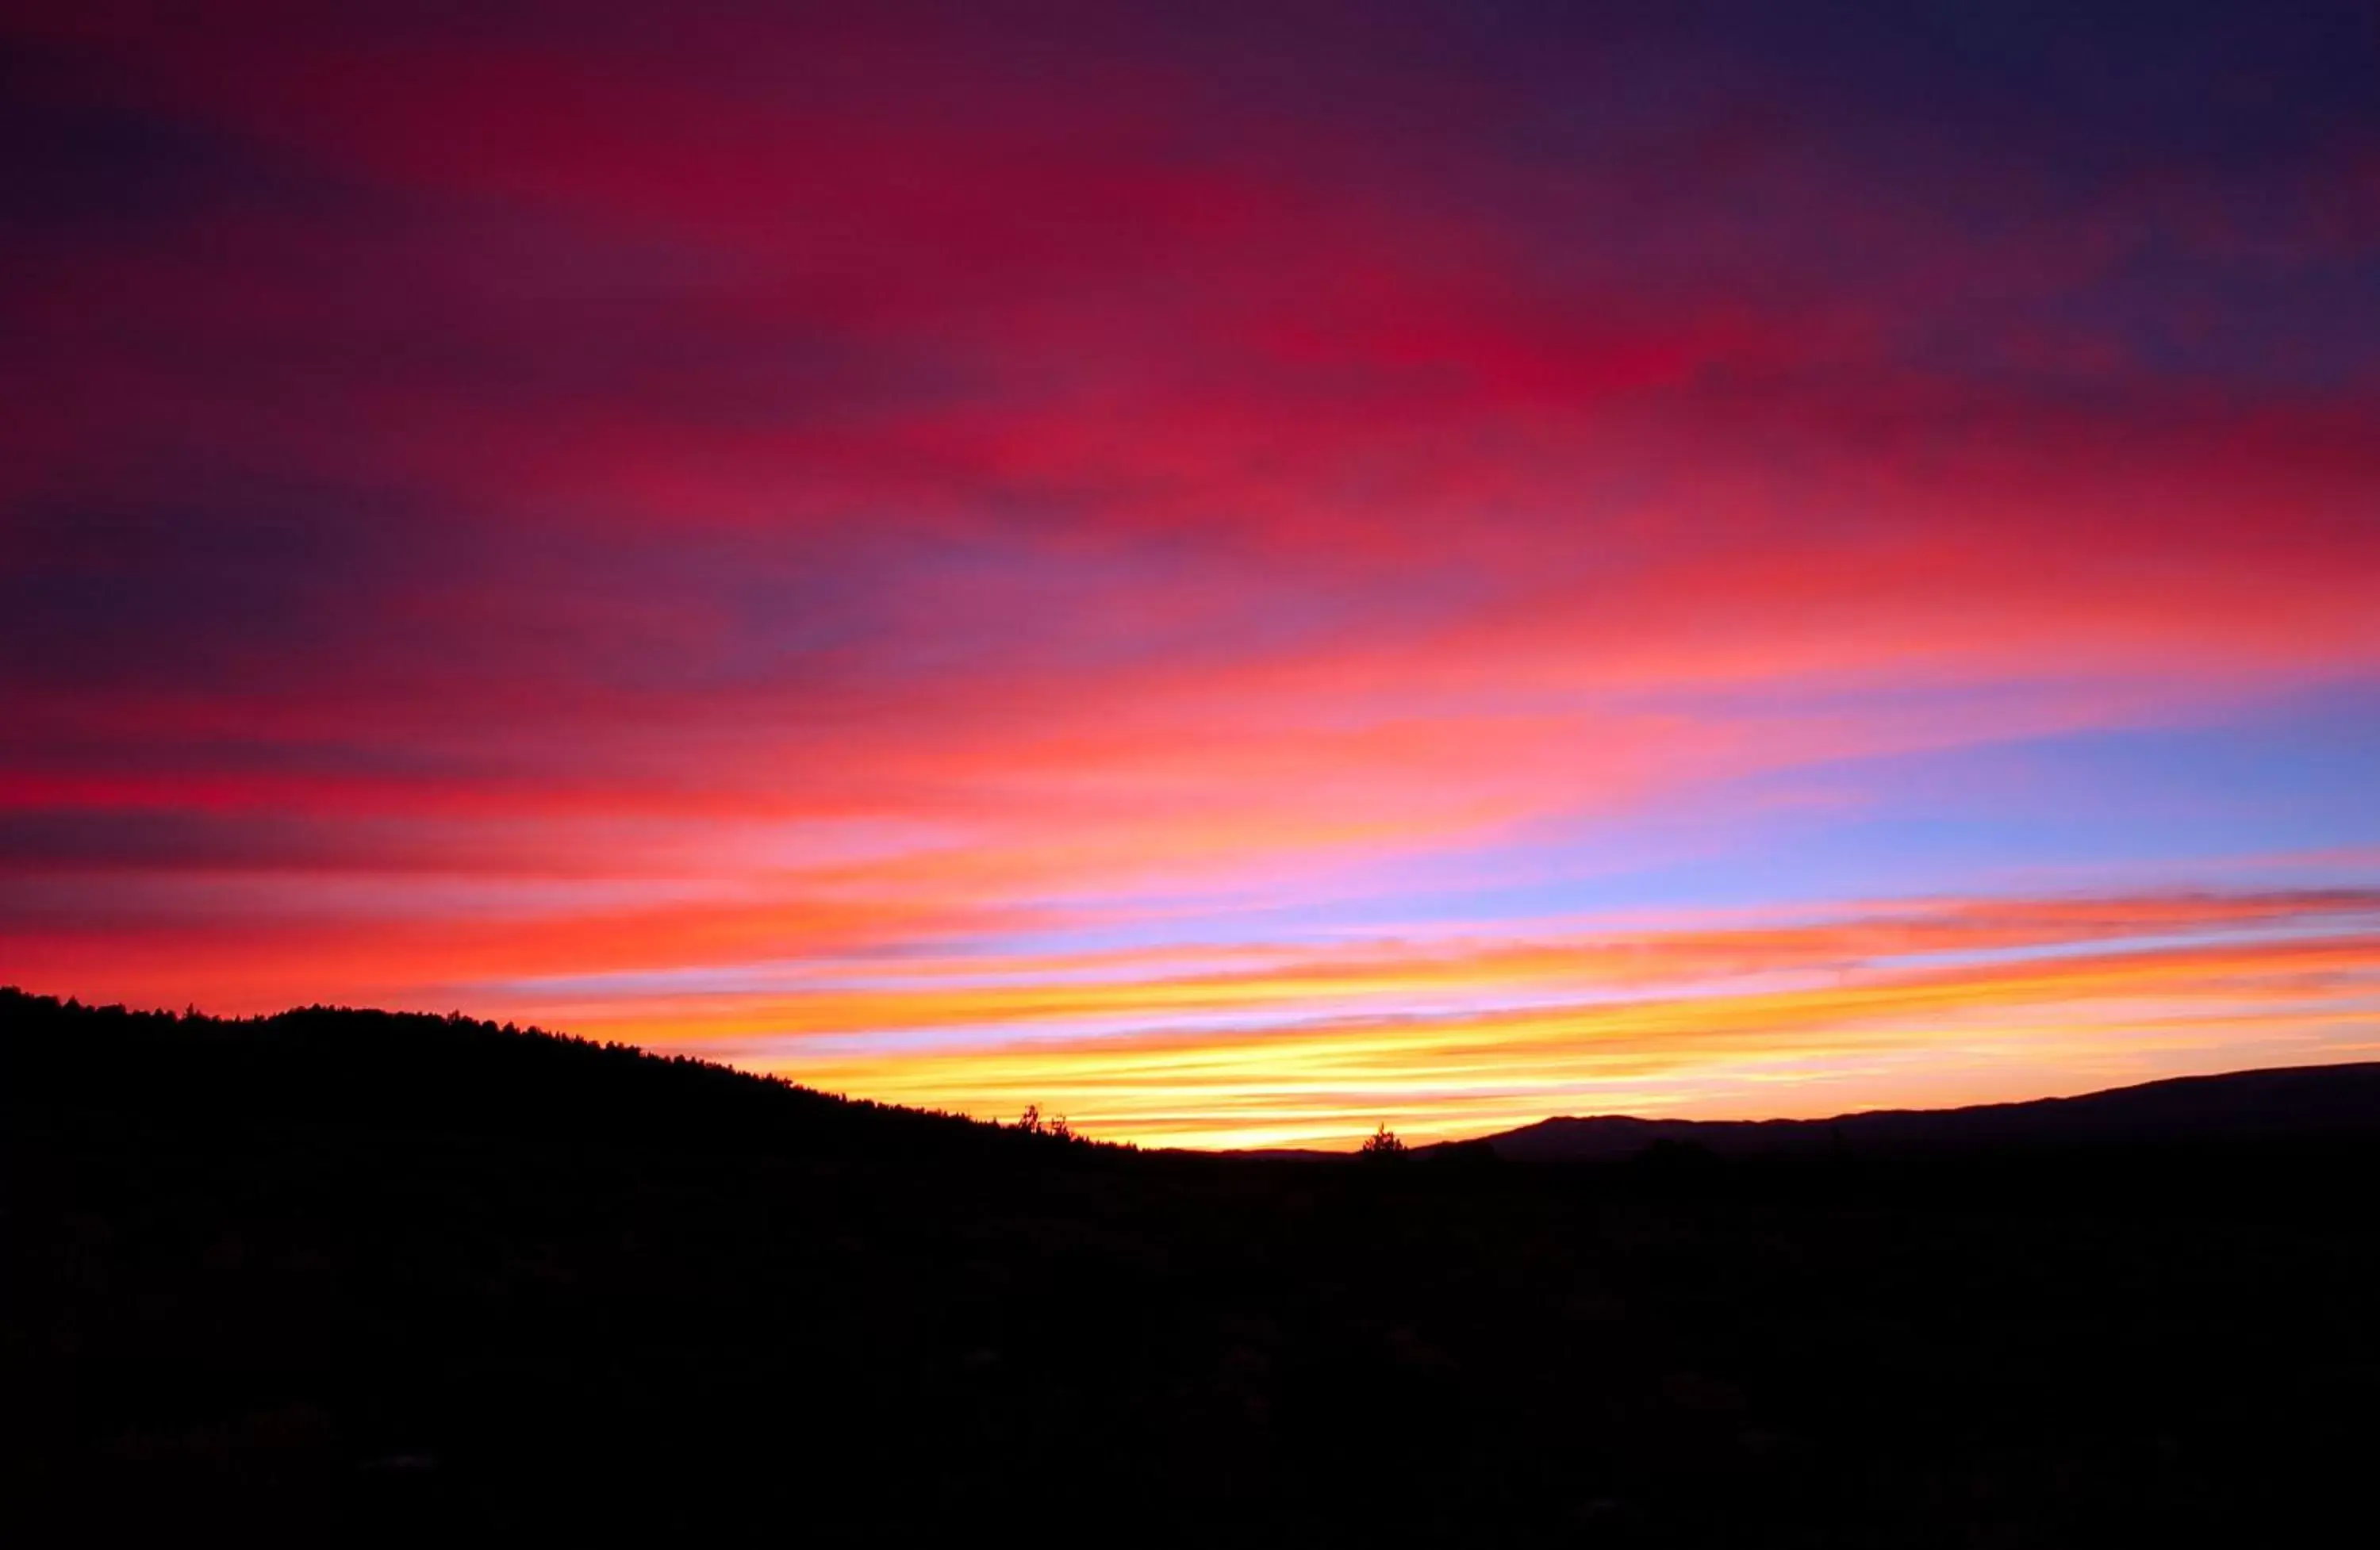
[[[2354,1126],[1259,1162],[17,993],[0,1062],[21,1545],[2368,1526]]]

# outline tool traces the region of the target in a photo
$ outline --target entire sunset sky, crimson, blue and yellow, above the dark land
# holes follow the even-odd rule
[[[2373,81],[0,0],[0,983],[1202,1148],[2380,1057]]]

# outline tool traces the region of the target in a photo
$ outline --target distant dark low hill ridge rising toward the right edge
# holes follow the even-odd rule
[[[1602,1162],[1656,1143],[1721,1157],[1840,1150],[2021,1150],[2244,1145],[2380,1138],[2380,1062],[2175,1076],[2132,1088],[1964,1110],[1873,1110],[1835,1119],[1540,1119],[1488,1136],[1514,1162]]]

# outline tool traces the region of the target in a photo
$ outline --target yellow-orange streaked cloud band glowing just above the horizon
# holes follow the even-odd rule
[[[2380,1033],[2380,895],[1952,900],[835,979],[605,993],[571,1014],[838,1090],[978,1114],[1038,1102],[1166,1145],[1352,1145],[1378,1119],[1447,1138],[1549,1112],[1830,1114],[2335,1060]]]

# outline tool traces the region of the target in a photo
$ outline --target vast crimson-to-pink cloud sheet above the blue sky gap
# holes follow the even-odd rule
[[[2078,200],[1440,26],[19,24],[0,979],[914,950],[2380,671],[2368,143]]]

